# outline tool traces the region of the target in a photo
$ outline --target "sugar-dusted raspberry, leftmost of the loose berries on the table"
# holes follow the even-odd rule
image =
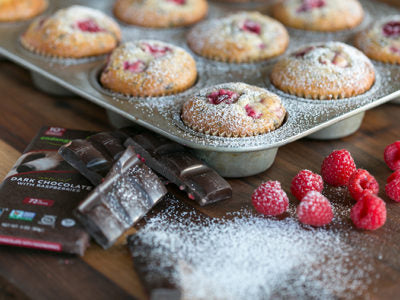
[[[279,181],[267,181],[261,184],[253,192],[251,201],[259,213],[267,216],[283,214],[289,206],[289,199]]]

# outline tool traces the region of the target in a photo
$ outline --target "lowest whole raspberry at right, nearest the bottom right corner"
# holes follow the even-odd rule
[[[357,228],[378,229],[386,222],[386,204],[378,196],[364,193],[351,209],[350,218]]]

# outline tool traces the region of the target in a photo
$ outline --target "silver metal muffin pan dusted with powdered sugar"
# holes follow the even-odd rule
[[[46,13],[67,6],[54,0]],[[103,10],[112,15],[113,1],[75,1],[68,5],[82,4]],[[310,42],[330,40],[351,44],[357,31],[364,29],[373,19],[398,14],[400,11],[374,0],[361,0],[366,17],[360,26],[337,33],[318,33],[289,28],[289,53]],[[226,4],[209,2],[208,18],[217,18],[239,10],[259,10],[268,13],[267,4]],[[39,87],[48,89],[46,79],[55,88],[48,92],[58,94],[58,85],[107,109],[113,125],[124,126],[132,121],[178,143],[188,146],[200,158],[226,177],[243,177],[260,173],[274,162],[280,146],[302,137],[317,139],[340,138],[355,132],[366,110],[400,97],[400,68],[373,61],[377,79],[370,91],[363,95],[332,101],[309,100],[286,94],[269,81],[269,73],[278,58],[252,64],[228,64],[205,59],[194,54],[186,44],[188,28],[150,29],[121,25],[123,40],[158,39],[188,50],[195,58],[198,69],[197,83],[189,90],[165,97],[133,98],[103,89],[98,76],[105,58],[54,59],[43,57],[24,49],[19,36],[29,22],[0,24],[0,55],[30,69]],[[286,107],[285,123],[268,134],[245,138],[208,136],[187,128],[180,119],[182,102],[196,90],[224,82],[241,81],[266,87],[277,93]]]

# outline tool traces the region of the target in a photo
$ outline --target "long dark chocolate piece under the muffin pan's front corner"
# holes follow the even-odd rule
[[[225,179],[177,143],[142,133],[131,136],[124,145],[133,146],[150,168],[202,206],[232,197],[232,188]]]

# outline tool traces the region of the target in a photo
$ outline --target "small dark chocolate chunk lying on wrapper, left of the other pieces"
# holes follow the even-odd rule
[[[113,163],[87,140],[72,140],[58,153],[94,185],[101,183]]]

